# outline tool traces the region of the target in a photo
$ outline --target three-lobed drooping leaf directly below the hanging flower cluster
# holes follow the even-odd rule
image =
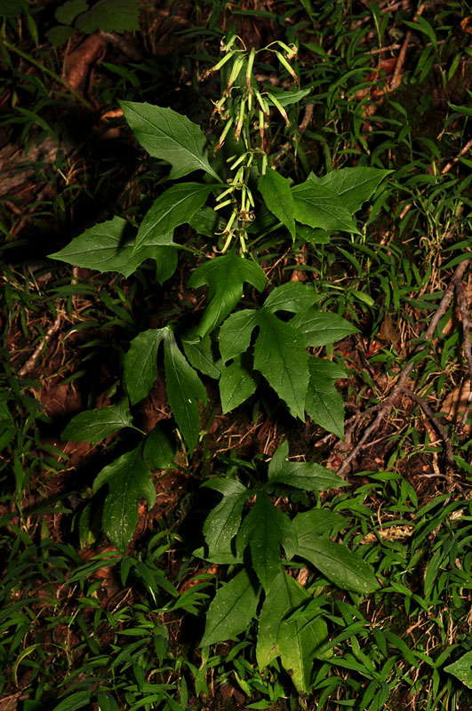
[[[208,306],[198,325],[197,335],[204,338],[224,321],[241,300],[245,282],[261,292],[266,277],[256,262],[238,257],[234,252],[208,260],[195,270],[188,286],[196,289],[208,285]]]

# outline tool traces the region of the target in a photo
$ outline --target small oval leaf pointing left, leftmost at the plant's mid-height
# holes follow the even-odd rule
[[[62,430],[60,436],[69,442],[97,444],[123,427],[132,427],[132,416],[125,399],[110,407],[79,412]]]

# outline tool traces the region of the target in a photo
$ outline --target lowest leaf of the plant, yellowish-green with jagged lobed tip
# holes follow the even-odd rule
[[[284,572],[274,580],[260,611],[256,648],[260,671],[280,657],[298,691],[309,691],[313,659],[323,655],[328,629],[324,619],[310,614],[287,619],[311,595]]]

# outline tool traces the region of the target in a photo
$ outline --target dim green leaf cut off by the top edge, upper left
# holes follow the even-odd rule
[[[99,0],[76,19],[76,28],[87,35],[101,32],[134,32],[140,29],[140,0]]]

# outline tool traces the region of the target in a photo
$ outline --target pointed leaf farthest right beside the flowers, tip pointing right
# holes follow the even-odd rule
[[[314,173],[308,180],[315,185],[324,185],[342,198],[342,203],[354,214],[363,206],[375,192],[380,182],[393,171],[383,171],[380,168],[341,168],[339,171],[326,173],[322,178]]]

